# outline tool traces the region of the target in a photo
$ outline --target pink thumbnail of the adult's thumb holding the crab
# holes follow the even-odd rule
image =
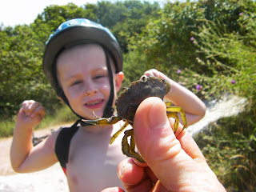
[[[152,130],[158,130],[166,126],[166,106],[163,107],[162,105],[164,105],[163,102],[158,101],[150,108],[149,126]]]

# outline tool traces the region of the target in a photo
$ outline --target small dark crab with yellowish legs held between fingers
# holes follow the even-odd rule
[[[118,135],[126,129],[126,126],[133,126],[134,115],[139,104],[146,98],[158,97],[163,99],[170,91],[170,83],[163,78],[142,77],[141,80],[132,82],[128,88],[124,88],[122,94],[116,101],[117,114],[110,118],[98,118],[94,120],[82,119],[83,122],[90,125],[106,126],[115,124],[118,121],[124,120],[124,125],[112,136],[110,144],[114,142]],[[168,118],[175,118],[174,134],[178,130],[178,113],[181,114],[182,122],[184,123],[182,131],[186,128],[186,115],[182,107],[172,106],[171,102],[166,102],[166,114]],[[130,145],[128,143],[130,137]],[[130,158],[136,158],[139,162],[145,162],[143,158],[135,152],[134,130],[126,130],[122,138],[122,153]]]

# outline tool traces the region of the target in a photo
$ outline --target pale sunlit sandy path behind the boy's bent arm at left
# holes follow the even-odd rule
[[[50,134],[50,130],[57,130],[59,126],[46,130],[35,131],[35,136],[40,137]],[[54,166],[31,174],[16,174],[10,166],[10,144],[12,138],[0,139],[0,191],[1,192],[55,192],[69,191],[66,176],[61,166]]]

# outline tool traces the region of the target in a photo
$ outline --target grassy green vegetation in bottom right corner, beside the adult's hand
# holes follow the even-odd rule
[[[227,191],[256,190],[254,110],[221,118],[195,136],[210,168]]]

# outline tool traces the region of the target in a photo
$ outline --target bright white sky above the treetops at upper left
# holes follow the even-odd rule
[[[148,0],[154,2],[157,0]],[[89,3],[97,3],[98,0],[1,0],[0,1],[0,26],[16,26],[34,22],[38,14],[41,14],[50,5],[66,5],[73,2],[77,6]],[[110,1],[115,2],[115,1]],[[143,2],[143,1],[142,1]]]

